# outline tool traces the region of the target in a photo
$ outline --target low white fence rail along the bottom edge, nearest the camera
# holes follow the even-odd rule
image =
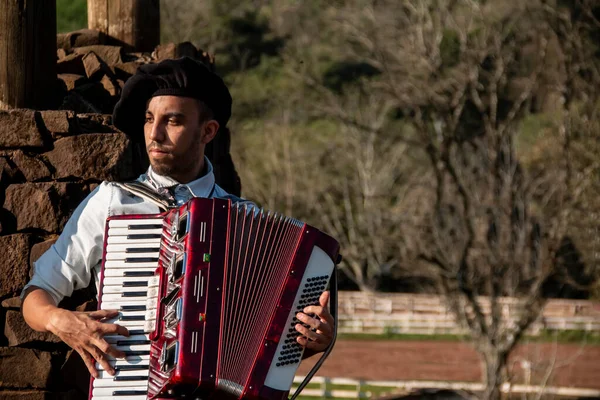
[[[295,388],[302,382],[303,376],[294,377]],[[417,389],[448,389],[457,391],[480,392],[484,389],[483,384],[473,382],[444,382],[444,381],[367,381],[349,378],[325,378],[314,377],[312,384],[319,384],[319,388],[311,387],[302,391],[302,397],[319,398],[349,398],[349,399],[368,399],[373,393],[370,391],[373,387],[383,388],[385,392],[411,392]],[[336,386],[342,386],[343,389],[336,389]],[[350,390],[348,387],[355,386],[356,389]],[[387,390],[389,389],[389,391]],[[505,384],[502,387],[504,393],[514,394],[538,394],[555,395],[561,397],[577,398],[598,398],[600,390],[597,389],[578,389],[572,387],[557,386],[535,386],[535,385],[510,385]]]

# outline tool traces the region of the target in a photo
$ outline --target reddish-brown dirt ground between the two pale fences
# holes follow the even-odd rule
[[[302,363],[305,375],[318,359]],[[517,348],[511,372],[523,382],[522,365],[531,365],[531,384],[600,389],[600,346],[533,343]],[[481,362],[474,348],[461,342],[339,340],[317,374],[367,380],[481,380]]]

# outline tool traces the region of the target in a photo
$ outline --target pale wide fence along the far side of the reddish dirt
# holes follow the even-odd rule
[[[484,313],[489,300],[479,299]],[[503,314],[518,312],[518,299],[502,298]],[[511,320],[512,318],[507,318]],[[340,292],[339,332],[354,334],[463,334],[454,316],[438,296]],[[550,300],[529,334],[542,330],[600,332],[600,303],[584,300]]]

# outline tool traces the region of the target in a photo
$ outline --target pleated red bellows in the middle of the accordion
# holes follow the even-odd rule
[[[219,387],[239,395],[284,287],[304,224],[234,206],[225,267]]]

